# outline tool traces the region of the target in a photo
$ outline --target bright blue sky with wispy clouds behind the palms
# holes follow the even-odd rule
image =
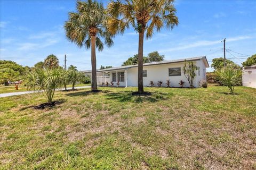
[[[105,6],[109,1],[100,1]],[[76,1],[0,1],[0,58],[33,66],[50,54],[78,70],[91,69],[91,52],[67,40],[63,24]],[[145,39],[143,55],[158,51],[165,60],[206,56],[226,57],[241,65],[256,54],[256,1],[175,1],[179,25],[163,28]],[[101,65],[120,66],[138,53],[138,33],[133,28],[114,38],[114,46],[97,55]],[[207,71],[212,71],[210,67]]]

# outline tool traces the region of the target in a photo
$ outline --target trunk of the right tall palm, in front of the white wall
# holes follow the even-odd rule
[[[143,39],[145,28],[139,32],[139,50],[138,50],[138,92],[142,93],[143,90]]]

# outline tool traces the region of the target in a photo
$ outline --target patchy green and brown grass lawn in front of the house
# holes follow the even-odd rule
[[[99,89],[0,98],[0,169],[256,169],[256,89]]]

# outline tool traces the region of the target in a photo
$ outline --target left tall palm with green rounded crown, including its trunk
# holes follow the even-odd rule
[[[78,47],[91,48],[92,63],[92,91],[97,91],[96,54],[95,48],[103,49],[100,38],[105,40],[105,45],[113,45],[110,33],[107,31],[107,17],[102,3],[88,0],[76,2],[77,12],[69,12],[69,19],[65,22],[68,40],[76,43]]]

